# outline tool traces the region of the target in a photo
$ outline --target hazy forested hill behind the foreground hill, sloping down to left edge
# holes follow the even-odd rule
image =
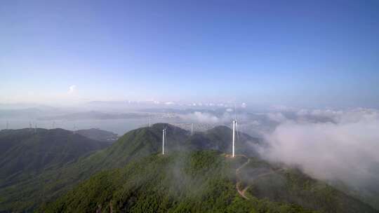
[[[167,128],[167,152],[181,149],[188,138],[187,131],[163,123],[151,128],[139,128],[126,133],[107,149],[64,165],[46,170],[39,177],[23,179],[0,188],[0,212],[12,209],[33,209],[44,200],[55,198],[92,174],[111,168],[124,167],[130,160],[140,159],[161,151],[162,129]]]

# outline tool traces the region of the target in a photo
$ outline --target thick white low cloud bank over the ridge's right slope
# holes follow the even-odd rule
[[[299,165],[318,179],[341,180],[354,188],[379,193],[379,114],[376,110],[298,111],[298,116],[322,116],[333,122],[296,121],[275,114],[280,122],[266,135],[269,160]]]

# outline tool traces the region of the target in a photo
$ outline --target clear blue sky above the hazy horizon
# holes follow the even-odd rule
[[[379,1],[2,1],[0,29],[0,102],[379,107]]]

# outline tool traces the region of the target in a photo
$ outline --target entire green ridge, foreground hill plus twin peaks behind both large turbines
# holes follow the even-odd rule
[[[167,141],[162,156],[164,128]],[[345,208],[352,209],[350,212],[357,209],[375,212],[363,202],[298,170],[260,160],[254,147],[262,142],[243,133],[237,140],[239,156],[230,158],[225,153],[231,152],[231,139],[232,130],[224,126],[194,135],[164,123],[138,128],[106,149],[0,188],[0,212],[31,212],[36,208],[41,212],[79,211],[75,209],[81,209],[79,212],[111,212],[110,209],[112,212],[215,212],[216,209],[217,212],[220,209],[221,212],[310,212],[307,209],[344,212]],[[159,168],[167,167],[171,173],[159,173],[162,171]],[[260,188],[258,182],[270,187]],[[217,183],[221,188],[215,187]],[[197,190],[208,193],[198,195]],[[240,205],[241,209],[237,209]]]

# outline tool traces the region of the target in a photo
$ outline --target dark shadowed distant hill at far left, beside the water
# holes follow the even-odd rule
[[[0,186],[61,167],[92,151],[103,149],[98,142],[62,129],[22,129],[0,132]]]

